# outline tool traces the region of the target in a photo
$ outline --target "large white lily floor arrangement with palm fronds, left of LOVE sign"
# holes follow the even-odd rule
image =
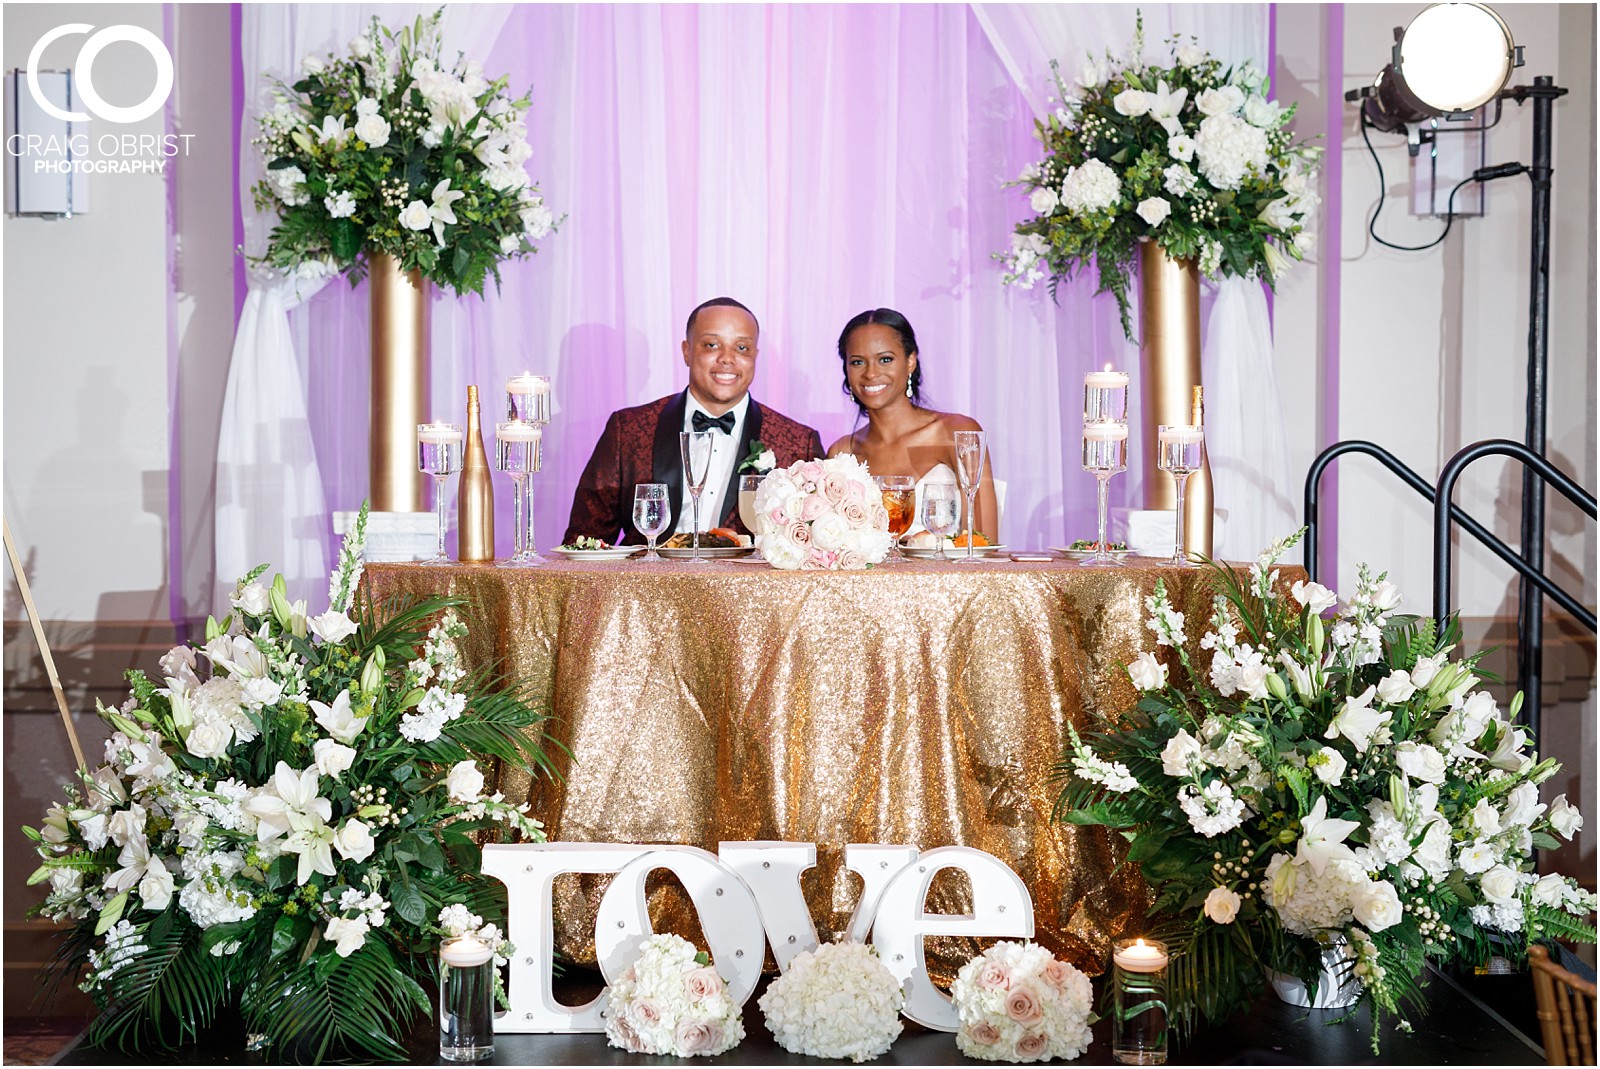
[[[104,763],[24,829],[35,912],[69,925],[56,965],[102,1010],[91,1043],[170,1048],[227,1007],[280,1056],[405,1061],[430,919],[504,917],[478,840],[544,834],[478,762],[547,768],[542,714],[466,672],[453,602],[355,597],[365,530],[363,506],[325,613],[256,570],[163,680],[128,672]]]

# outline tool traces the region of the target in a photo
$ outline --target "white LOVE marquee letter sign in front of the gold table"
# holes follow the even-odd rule
[[[554,887],[568,872],[614,874],[595,914],[595,957],[608,984],[638,957],[650,935],[645,879],[667,869],[683,882],[699,914],[717,971],[741,1005],[755,992],[765,944],[779,968],[818,946],[816,925],[800,893],[800,874],[816,864],[816,845],[786,842],[718,843],[717,853],[698,847],[640,847],[621,843],[520,843],[483,848],[483,875],[506,885],[507,931],[517,946],[510,962],[510,1011],[499,1032],[603,1032],[600,1011],[606,995],[566,1007],[555,1000],[550,973],[555,955]],[[850,939],[872,933],[883,963],[906,984],[906,1016],[944,1032],[960,1027],[949,995],[928,979],[925,936],[1034,935],[1034,901],[1003,861],[971,847],[915,847],[851,843],[845,867],[864,887],[850,919]],[[928,914],[928,887],[944,869],[960,869],[973,885],[973,912]]]

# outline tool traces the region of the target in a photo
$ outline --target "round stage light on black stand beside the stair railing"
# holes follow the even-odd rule
[[[1362,107],[1363,138],[1368,128],[1403,134],[1413,157],[1418,155],[1422,144],[1445,133],[1494,126],[1499,123],[1504,101],[1514,101],[1518,106],[1533,101],[1533,163],[1480,166],[1456,189],[1459,190],[1467,182],[1485,182],[1514,174],[1528,174],[1533,182],[1528,416],[1523,443],[1533,453],[1544,456],[1550,336],[1550,128],[1554,123],[1552,106],[1557,98],[1566,94],[1566,90],[1557,86],[1549,75],[1533,78],[1533,85],[1509,85],[1512,72],[1520,66],[1523,66],[1522,46],[1512,40],[1510,27],[1493,8],[1482,3],[1435,3],[1411,19],[1405,30],[1395,27],[1390,62],[1378,74],[1371,86],[1352,90],[1346,93],[1346,99]],[[1493,122],[1470,125],[1474,112],[1490,102],[1494,104]],[[1432,120],[1440,118],[1445,120],[1445,125],[1432,123]],[[1432,123],[1434,128],[1424,128],[1422,123]],[[1371,147],[1371,139],[1368,139],[1368,147]],[[1378,160],[1376,152],[1373,152],[1373,160]],[[1382,166],[1379,165],[1381,174]],[[1403,246],[1378,237],[1378,211],[1382,210],[1382,194],[1379,194],[1378,211],[1373,213],[1368,232],[1374,240],[1390,248],[1430,248],[1450,232],[1454,216],[1453,203],[1454,190],[1451,190],[1451,210],[1446,213],[1445,232],[1435,242]],[[1544,482],[1526,466],[1523,467],[1522,494],[1522,559],[1530,568],[1542,571]],[[1525,717],[1534,731],[1539,728],[1539,688],[1542,682],[1542,613],[1544,597],[1539,587],[1523,578],[1518,599],[1518,682],[1525,691]]]

